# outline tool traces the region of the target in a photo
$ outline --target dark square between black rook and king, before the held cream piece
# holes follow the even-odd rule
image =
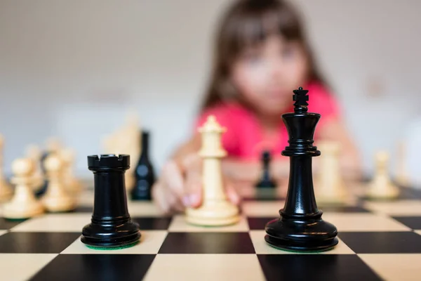
[[[248,233],[168,233],[159,254],[255,254]]]

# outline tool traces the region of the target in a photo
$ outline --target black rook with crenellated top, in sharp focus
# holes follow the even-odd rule
[[[124,173],[129,155],[88,156],[93,171],[95,197],[91,224],[82,230],[81,241],[91,247],[125,247],[140,239],[138,223],[128,214]]]

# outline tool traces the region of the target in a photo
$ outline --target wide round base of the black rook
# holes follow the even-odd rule
[[[130,218],[97,219],[82,230],[81,242],[91,247],[115,248],[135,244],[140,240],[138,223]]]

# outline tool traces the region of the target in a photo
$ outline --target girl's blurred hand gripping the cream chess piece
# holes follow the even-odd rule
[[[159,181],[152,187],[152,197],[165,213],[181,212],[185,207],[197,208],[203,200],[201,182],[202,159],[199,155],[187,155],[180,162],[168,161],[162,169]],[[224,180],[228,199],[239,204],[240,197],[234,185]]]

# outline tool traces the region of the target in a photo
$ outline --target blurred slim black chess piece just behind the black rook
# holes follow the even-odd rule
[[[131,190],[132,200],[151,200],[155,183],[154,167],[149,160],[149,132],[142,131],[142,153],[135,169],[135,186]]]

